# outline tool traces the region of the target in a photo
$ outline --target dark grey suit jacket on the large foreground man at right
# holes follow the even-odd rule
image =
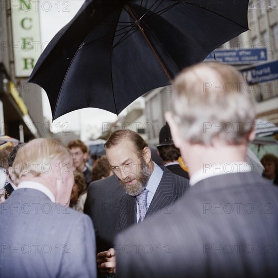
[[[278,189],[257,173],[213,176],[118,236],[118,277],[277,277]],[[129,247],[129,248],[126,248]]]

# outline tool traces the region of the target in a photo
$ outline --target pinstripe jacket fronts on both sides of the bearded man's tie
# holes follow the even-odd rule
[[[183,195],[189,186],[188,179],[173,174],[166,167],[162,166],[161,168],[163,175],[145,218],[155,212],[171,213],[172,204]],[[136,222],[136,197],[124,194],[119,204],[118,233]]]

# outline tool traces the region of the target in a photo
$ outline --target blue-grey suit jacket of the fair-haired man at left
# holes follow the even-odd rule
[[[91,220],[52,203],[42,192],[18,189],[0,205],[1,277],[96,277]]]

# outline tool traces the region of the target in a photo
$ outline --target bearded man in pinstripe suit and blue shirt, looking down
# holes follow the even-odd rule
[[[117,233],[131,225],[140,224],[155,212],[165,215],[171,213],[171,205],[186,191],[188,179],[173,174],[165,167],[160,168],[153,162],[148,144],[134,131],[114,131],[105,148],[112,171],[126,192],[119,200]],[[116,250],[121,248],[114,247]],[[116,272],[115,249],[98,254],[101,272]]]

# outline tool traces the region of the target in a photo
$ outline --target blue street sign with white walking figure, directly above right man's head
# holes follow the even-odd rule
[[[266,48],[248,50],[215,50],[210,53],[205,62],[215,61],[227,64],[253,64],[267,61]]]

